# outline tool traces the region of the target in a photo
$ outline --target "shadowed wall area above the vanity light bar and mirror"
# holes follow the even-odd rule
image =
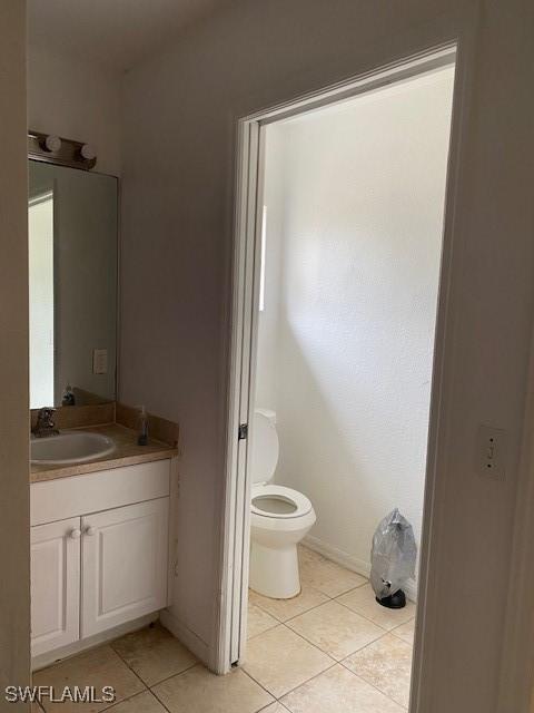
[[[120,175],[120,74],[38,47],[31,35],[28,52],[29,128],[93,145],[95,170]]]

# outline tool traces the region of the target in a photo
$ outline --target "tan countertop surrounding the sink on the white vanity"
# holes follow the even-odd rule
[[[116,449],[105,457],[96,458],[83,463],[72,463],[69,466],[42,466],[31,463],[30,482],[42,482],[56,478],[68,478],[69,476],[81,476],[99,470],[121,468],[122,466],[136,466],[152,460],[165,460],[178,456],[178,449],[149,438],[147,446],[138,446],[137,431],[120,426],[119,423],[107,423],[105,426],[91,426],[87,428],[69,429],[77,431],[88,431],[91,433],[102,433],[112,439]]]

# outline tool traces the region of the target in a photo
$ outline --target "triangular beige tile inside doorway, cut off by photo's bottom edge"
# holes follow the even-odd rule
[[[402,713],[403,709],[340,665],[284,696],[291,713]]]

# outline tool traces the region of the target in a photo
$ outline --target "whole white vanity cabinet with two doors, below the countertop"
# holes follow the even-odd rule
[[[167,606],[170,460],[31,485],[31,651]]]

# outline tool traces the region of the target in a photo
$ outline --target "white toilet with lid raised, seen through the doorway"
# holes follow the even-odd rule
[[[300,593],[297,545],[317,518],[305,495],[270,485],[279,453],[274,411],[256,409],[251,448],[249,585],[266,597],[289,599]]]

